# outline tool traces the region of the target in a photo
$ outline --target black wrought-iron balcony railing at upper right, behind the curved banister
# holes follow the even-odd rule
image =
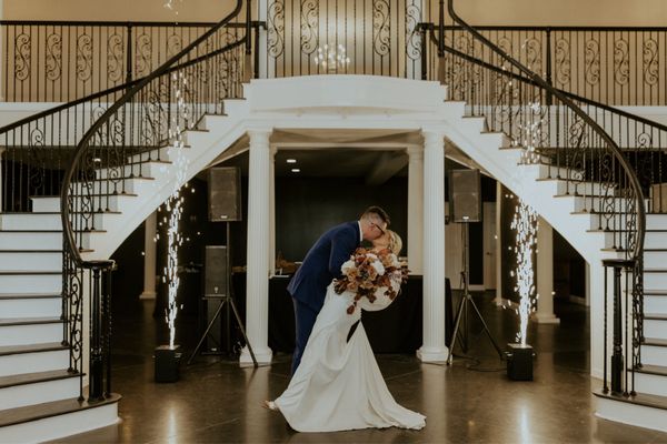
[[[475,27],[550,85],[611,105],[667,104],[667,28]],[[446,44],[478,59],[490,49],[460,27]]]

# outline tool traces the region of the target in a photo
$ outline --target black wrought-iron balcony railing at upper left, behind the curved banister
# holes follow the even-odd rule
[[[69,102],[150,74],[213,24],[0,21],[2,98]]]

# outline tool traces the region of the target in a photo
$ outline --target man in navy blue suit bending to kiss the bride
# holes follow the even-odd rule
[[[287,286],[295,303],[297,341],[292,357],[292,374],[301,362],[301,354],[325,303],[327,286],[340,278],[340,266],[361,244],[385,233],[389,216],[379,206],[369,206],[355,222],[334,226],[310,248],[303,263]]]

